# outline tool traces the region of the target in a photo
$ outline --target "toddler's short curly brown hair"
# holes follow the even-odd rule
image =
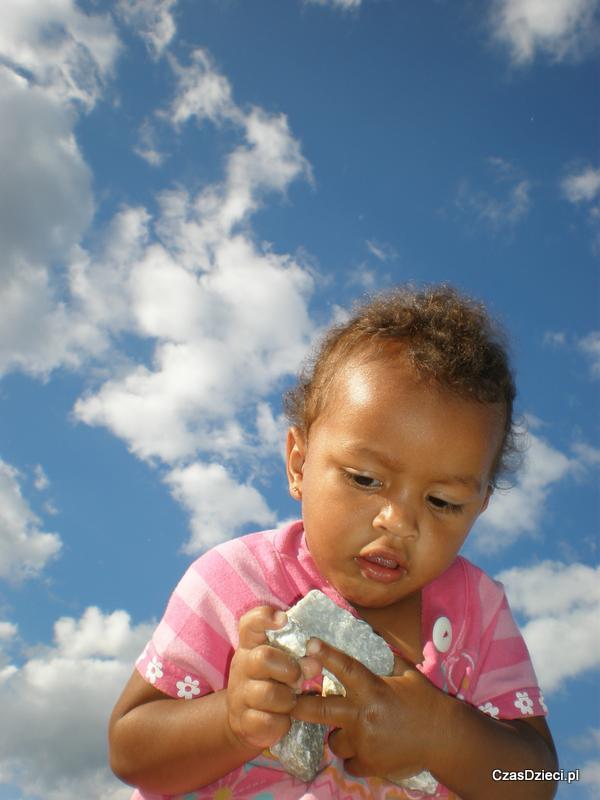
[[[290,424],[308,435],[340,366],[358,355],[391,358],[390,343],[400,344],[417,373],[441,388],[504,408],[504,436],[491,478],[493,487],[500,486],[521,455],[506,336],[482,303],[445,284],[397,287],[355,305],[346,322],[327,331],[284,395]]]

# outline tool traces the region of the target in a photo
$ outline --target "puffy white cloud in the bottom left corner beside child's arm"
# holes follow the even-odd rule
[[[124,611],[86,609],[54,644],[0,670],[0,775],[45,800],[126,800],[107,767],[108,715],[151,633]]]

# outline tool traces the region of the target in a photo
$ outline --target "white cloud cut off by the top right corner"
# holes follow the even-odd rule
[[[597,43],[598,0],[495,0],[491,24],[513,63],[538,52],[553,61],[582,57]]]

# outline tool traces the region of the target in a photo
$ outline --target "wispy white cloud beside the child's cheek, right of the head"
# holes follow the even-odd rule
[[[473,540],[476,549],[495,552],[508,547],[523,534],[535,533],[553,484],[578,466],[575,459],[530,433],[517,485],[508,491],[495,492],[477,522]]]

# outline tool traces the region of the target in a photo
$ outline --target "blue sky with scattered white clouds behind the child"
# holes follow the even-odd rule
[[[365,291],[509,329],[466,554],[598,796],[598,0],[4,0],[0,798],[124,800],[106,717],[189,561],[297,514],[281,392]]]

